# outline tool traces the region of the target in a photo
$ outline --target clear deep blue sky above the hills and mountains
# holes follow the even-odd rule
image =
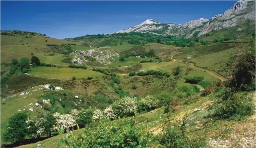
[[[54,38],[107,34],[146,19],[184,24],[221,14],[236,1],[0,1],[1,30]]]

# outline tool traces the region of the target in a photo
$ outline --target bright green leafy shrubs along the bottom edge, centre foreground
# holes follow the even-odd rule
[[[73,137],[62,139],[61,142],[75,148],[148,148],[151,136],[136,126],[133,120],[121,123],[101,122],[94,129],[86,128],[85,133],[76,136],[74,142],[70,142]]]

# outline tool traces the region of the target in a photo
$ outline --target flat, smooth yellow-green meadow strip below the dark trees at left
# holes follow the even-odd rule
[[[77,78],[87,78],[88,76],[103,75],[96,71],[78,69],[78,68],[54,68],[54,67],[36,67],[29,74],[47,77],[47,78],[67,78],[72,79],[72,76]]]

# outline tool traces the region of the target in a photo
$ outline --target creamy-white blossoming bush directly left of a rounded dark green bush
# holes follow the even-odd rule
[[[59,112],[56,112],[53,114],[53,117],[56,118],[56,125],[54,127],[56,130],[66,130],[76,125],[75,117],[71,114],[61,115]]]

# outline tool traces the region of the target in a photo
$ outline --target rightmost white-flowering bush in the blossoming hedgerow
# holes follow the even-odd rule
[[[147,96],[138,100],[139,111],[151,111],[159,107],[159,100],[154,96]]]

